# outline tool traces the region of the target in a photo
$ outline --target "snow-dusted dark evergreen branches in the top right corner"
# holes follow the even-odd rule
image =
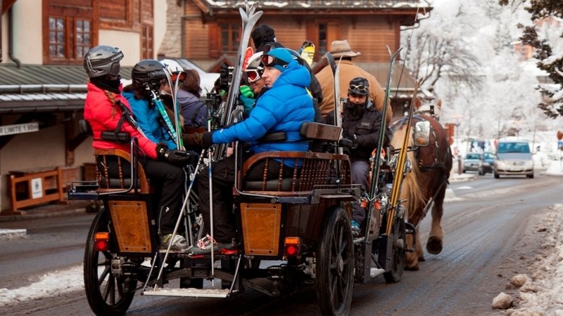
[[[526,3],[526,11],[531,13],[533,22],[543,18],[563,18],[561,0],[499,0],[499,3],[505,6],[519,6]],[[563,116],[563,56],[559,51],[554,54],[552,41],[549,37],[540,36],[536,26],[519,25],[519,27],[523,30],[523,35],[520,38],[522,43],[536,48],[534,58],[539,60],[538,68],[548,72],[549,78],[556,84],[555,87],[553,85],[540,85],[541,93],[548,98],[540,102],[538,107],[548,117]],[[560,31],[559,37],[563,37]]]

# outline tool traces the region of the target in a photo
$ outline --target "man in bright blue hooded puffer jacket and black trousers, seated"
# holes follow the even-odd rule
[[[262,78],[268,90],[258,98],[254,109],[243,121],[213,132],[203,134],[202,145],[209,147],[213,144],[232,143],[234,141],[248,142],[250,156],[254,153],[268,151],[307,151],[309,143],[299,134],[301,124],[315,119],[312,97],[306,90],[310,84],[310,74],[307,68],[299,65],[286,48],[274,48],[262,56],[264,73]],[[270,133],[284,132],[285,142],[258,142],[260,138]],[[213,225],[215,240],[205,236],[191,246],[191,254],[208,254],[212,251],[232,249],[235,244],[234,222],[232,213],[232,187],[234,185],[234,155],[214,162],[212,166],[213,178]],[[293,174],[294,162],[284,160],[286,176]],[[270,161],[270,177],[279,176],[280,162]],[[262,170],[258,177],[261,178]],[[248,174],[249,178],[253,176]],[[207,169],[198,178],[199,208],[203,215],[203,234],[210,232],[210,197]],[[213,246],[212,246],[213,245]]]

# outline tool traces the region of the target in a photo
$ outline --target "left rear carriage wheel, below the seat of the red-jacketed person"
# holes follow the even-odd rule
[[[88,304],[96,315],[123,315],[133,301],[137,279],[115,277],[111,273],[113,254],[94,249],[94,235],[107,232],[108,225],[108,212],[100,211],[88,232],[84,252],[84,288]]]

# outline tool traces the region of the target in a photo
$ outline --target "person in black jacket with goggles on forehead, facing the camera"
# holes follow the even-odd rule
[[[382,114],[368,98],[369,81],[356,77],[350,81],[348,98],[342,115],[342,139],[339,145],[348,147],[352,162],[352,183],[360,184],[362,191],[367,190],[369,176],[369,157],[377,148]],[[330,113],[329,116],[334,115]],[[328,121],[334,121],[329,118]],[[383,147],[389,143],[389,134],[385,133]],[[360,235],[360,226],[365,220],[365,209],[359,203],[353,205],[352,232]]]

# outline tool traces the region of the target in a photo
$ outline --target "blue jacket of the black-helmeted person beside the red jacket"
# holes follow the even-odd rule
[[[148,101],[145,99],[135,98],[133,91],[125,91],[122,95],[129,101],[135,120],[143,133],[145,133],[146,138],[152,140],[153,143],[165,143],[172,150],[177,148],[174,140],[170,138],[163,126],[158,122],[160,113],[158,113],[156,107],[149,107]]]

